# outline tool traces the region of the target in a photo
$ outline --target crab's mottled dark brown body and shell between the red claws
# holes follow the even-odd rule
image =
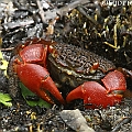
[[[116,68],[112,62],[87,50],[63,43],[52,46],[57,55],[48,54],[47,68],[55,80],[73,88],[84,81],[99,81],[107,72]]]

